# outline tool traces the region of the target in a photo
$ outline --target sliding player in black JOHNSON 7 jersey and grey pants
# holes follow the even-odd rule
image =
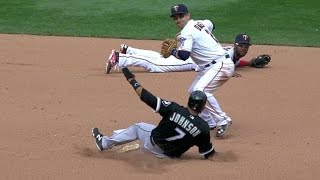
[[[110,137],[93,128],[92,135],[100,151],[138,139],[143,148],[160,158],[179,158],[193,146],[198,147],[199,154],[205,159],[212,157],[215,149],[210,140],[209,126],[198,116],[207,101],[204,92],[191,92],[188,106],[183,107],[152,95],[137,82],[128,68],[123,68],[122,72],[141,101],[159,113],[162,119],[157,126],[141,122],[115,130]]]

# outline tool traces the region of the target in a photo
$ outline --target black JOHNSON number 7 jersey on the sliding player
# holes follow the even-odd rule
[[[141,100],[163,117],[152,130],[153,142],[169,157],[180,157],[192,146],[198,146],[200,155],[214,151],[210,142],[210,129],[206,121],[190,114],[186,107],[153,96],[146,90]]]

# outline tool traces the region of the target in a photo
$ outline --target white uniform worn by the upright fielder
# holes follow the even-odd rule
[[[225,125],[231,118],[220,108],[213,92],[223,85],[234,73],[234,63],[221,44],[201,21],[190,20],[181,31],[179,50],[191,52],[190,57],[200,71],[188,92],[204,91],[208,103],[200,116],[210,128]]]

